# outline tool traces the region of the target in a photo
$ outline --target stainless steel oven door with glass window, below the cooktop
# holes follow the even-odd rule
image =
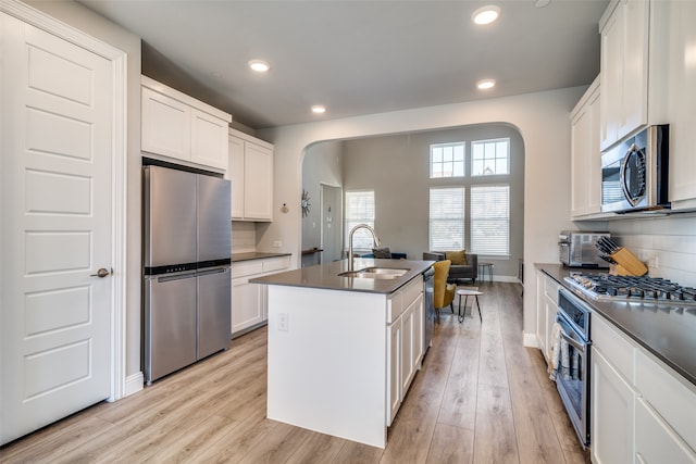
[[[589,343],[559,312],[556,322],[561,326],[561,339],[568,347],[560,355],[556,386],[566,411],[583,447],[589,444]]]

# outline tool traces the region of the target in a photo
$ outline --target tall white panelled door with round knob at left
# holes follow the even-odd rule
[[[111,62],[1,14],[2,443],[110,396]]]

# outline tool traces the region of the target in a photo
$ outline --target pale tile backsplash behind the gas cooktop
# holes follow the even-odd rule
[[[651,277],[696,287],[696,214],[610,221],[608,226],[612,238],[648,266]]]

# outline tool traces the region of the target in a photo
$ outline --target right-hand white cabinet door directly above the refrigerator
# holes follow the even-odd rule
[[[228,131],[225,121],[191,109],[191,162],[226,170]]]

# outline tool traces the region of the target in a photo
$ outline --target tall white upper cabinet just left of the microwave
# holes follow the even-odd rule
[[[571,113],[571,215],[600,213],[599,77]]]

